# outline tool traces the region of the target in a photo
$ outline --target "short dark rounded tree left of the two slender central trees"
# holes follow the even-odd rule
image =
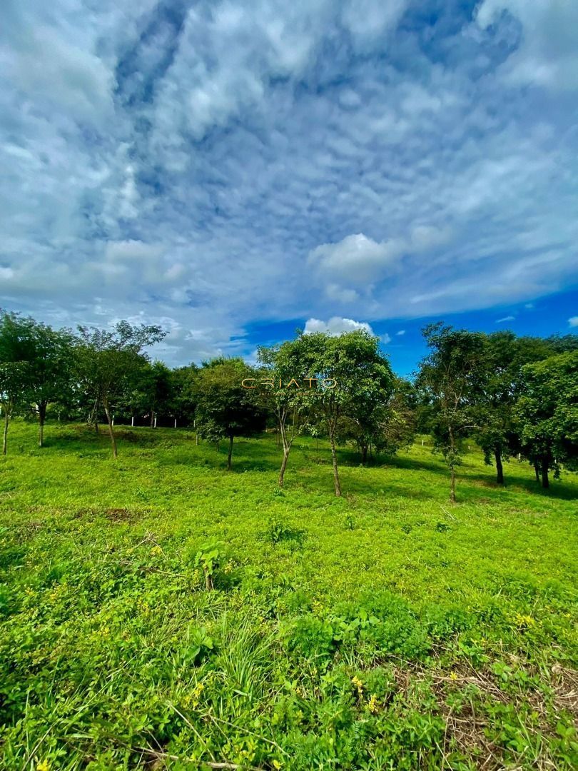
[[[242,385],[254,376],[243,359],[213,359],[203,363],[194,381],[197,429],[205,439],[229,439],[229,471],[235,436],[254,436],[265,427],[265,410]]]

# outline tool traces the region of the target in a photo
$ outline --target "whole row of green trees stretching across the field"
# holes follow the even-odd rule
[[[156,418],[193,427],[214,442],[277,431],[282,487],[299,434],[329,440],[335,494],[341,495],[337,447],[357,446],[361,463],[392,455],[415,433],[430,433],[442,453],[455,501],[455,475],[466,438],[476,440],[504,482],[503,461],[531,463],[536,480],[575,470],[578,461],[578,336],[517,337],[512,332],[458,330],[442,323],[423,330],[428,355],[415,376],[394,374],[367,332],[298,334],[259,348],[258,365],[213,359],[169,369],[146,348],[166,335],[158,326],[119,322],[112,330],[53,329],[0,311],[0,403],[3,453],[15,414],[34,416],[42,446],[48,414],[106,422],[113,456],[117,422]]]

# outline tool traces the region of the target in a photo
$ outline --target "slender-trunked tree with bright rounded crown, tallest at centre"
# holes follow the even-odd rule
[[[335,449],[339,420],[342,416],[371,419],[391,393],[393,373],[379,350],[378,338],[365,330],[337,336],[325,332],[301,335],[300,345],[301,376],[317,385],[302,388],[299,399],[327,425],[335,495],[341,496]]]

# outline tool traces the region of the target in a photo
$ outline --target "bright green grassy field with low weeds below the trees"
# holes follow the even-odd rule
[[[0,767],[573,769],[578,483],[15,421]],[[195,555],[217,538],[214,589]],[[223,765],[224,764],[224,765]]]

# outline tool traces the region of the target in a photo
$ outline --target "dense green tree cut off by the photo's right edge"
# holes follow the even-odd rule
[[[523,367],[523,395],[515,408],[522,453],[538,464],[542,486],[549,471],[578,459],[578,350]]]

